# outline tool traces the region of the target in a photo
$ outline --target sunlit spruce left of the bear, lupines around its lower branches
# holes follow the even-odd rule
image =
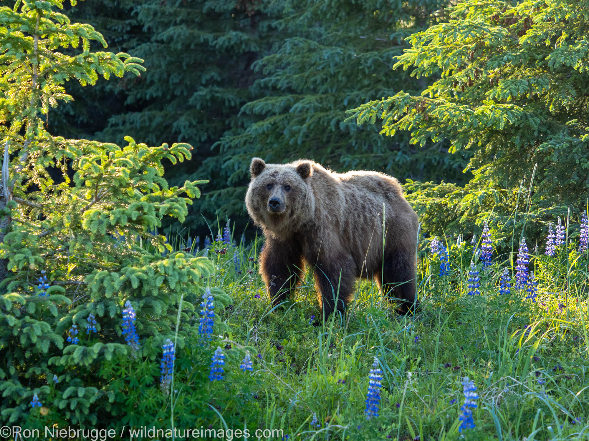
[[[106,47],[102,35],[60,9],[59,0],[0,8],[0,419],[41,429],[112,424],[132,385],[111,366],[153,359],[166,338],[178,347],[196,338],[214,269],[153,233],[164,216],[183,221],[200,195],[203,181],[162,177],[161,162],[190,159],[190,145],[127,137],[121,148],[45,128],[50,109],[71,100],[66,82],[144,70],[127,54],[90,51],[91,41]]]

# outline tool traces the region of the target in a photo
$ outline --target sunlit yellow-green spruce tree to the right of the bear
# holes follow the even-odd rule
[[[427,230],[458,231],[460,223],[491,216],[497,238],[512,235],[514,219],[525,221],[530,237],[542,228],[537,221],[569,207],[583,211],[588,6],[466,1],[449,8],[451,20],[411,35],[395,65],[435,82],[421,94],[404,88],[351,111],[359,124],[382,121],[383,135],[409,134],[414,145],[446,139],[452,152],[474,153],[468,185],[408,186]]]

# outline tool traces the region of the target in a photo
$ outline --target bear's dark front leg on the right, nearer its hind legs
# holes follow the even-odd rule
[[[334,311],[342,313],[352,295],[356,275],[355,263],[350,256],[329,256],[315,263],[315,284],[319,290],[319,302],[323,321]],[[337,308],[336,308],[337,300]]]

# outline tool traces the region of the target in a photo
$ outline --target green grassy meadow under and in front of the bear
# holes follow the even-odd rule
[[[212,426],[282,429],[289,439],[315,440],[589,439],[587,253],[579,256],[571,245],[568,256],[564,250],[554,258],[536,255],[531,270],[540,283],[532,302],[513,289],[499,295],[508,258],[481,272],[481,295],[469,296],[470,247],[451,246],[446,277],[422,250],[422,307],[415,317],[396,315],[365,281],[345,316],[315,327],[310,318],[320,313],[311,275],[272,309],[256,248],[209,250],[217,264],[210,283],[233,299],[217,311],[229,332],[212,342],[213,350],[227,345],[226,377],[207,390],[207,404],[217,410],[218,420],[207,421]],[[253,373],[238,369],[242,348],[252,352]],[[382,401],[380,415],[366,420],[375,356],[383,370]],[[465,376],[479,399],[475,429],[459,433]],[[321,427],[310,426],[313,413]]]

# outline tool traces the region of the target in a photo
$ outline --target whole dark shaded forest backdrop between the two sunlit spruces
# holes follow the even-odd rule
[[[418,181],[468,182],[468,151],[445,141],[410,145],[407,133],[345,122],[347,109],[435,80],[393,71],[405,38],[448,20],[442,0],[85,0],[73,21],[107,36],[109,50],[145,60],[137,78],[68,82],[74,102],[49,115],[68,138],[160,145],[188,142],[191,161],[168,165],[171,185],[209,179],[184,227],[217,233],[248,222],[243,198],[253,156],[310,158],[335,171],[369,169]],[[174,225],[177,227],[177,225]],[[250,230],[251,232],[252,230]]]

